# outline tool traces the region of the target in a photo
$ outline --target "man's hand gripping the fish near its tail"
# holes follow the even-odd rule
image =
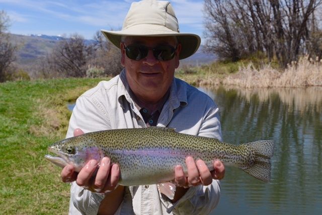
[[[186,165],[188,177],[185,176],[182,166],[178,165],[175,168],[175,182],[178,186],[189,187],[199,184],[206,186],[211,184],[212,179],[220,180],[225,175],[225,167],[219,160],[213,162],[213,171],[209,171],[203,160],[197,160],[195,162],[190,156],[186,158]]]

